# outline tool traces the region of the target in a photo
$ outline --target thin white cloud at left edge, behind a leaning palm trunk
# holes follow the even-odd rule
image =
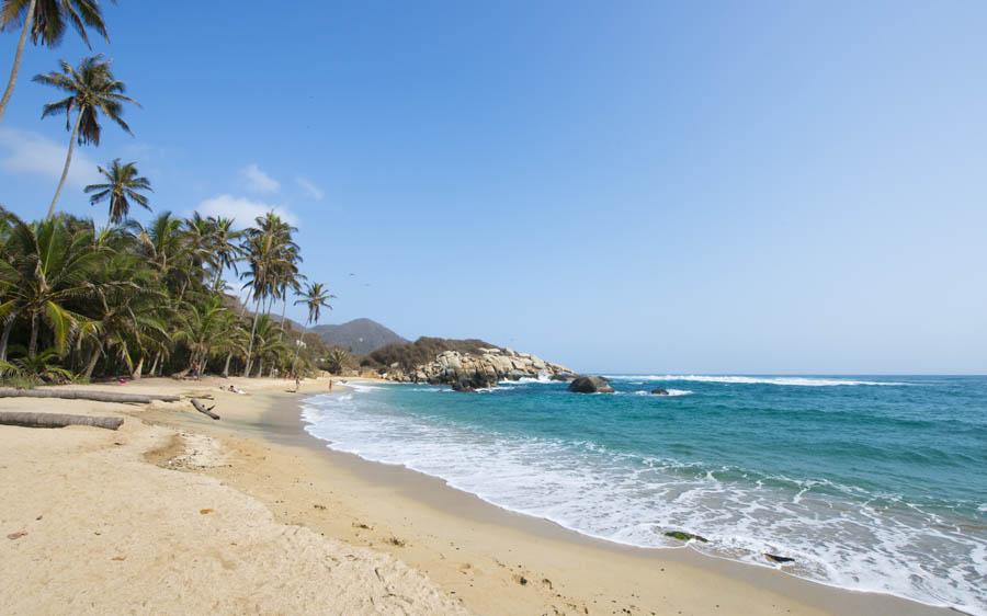
[[[0,128],[0,169],[8,173],[44,175],[54,186],[61,178],[67,150],[68,138],[59,144],[37,133]],[[97,163],[77,146],[66,182],[82,187],[99,181]]]

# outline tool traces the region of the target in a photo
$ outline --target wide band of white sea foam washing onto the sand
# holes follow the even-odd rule
[[[987,537],[916,504],[878,505],[878,495],[831,481],[738,481],[744,471],[731,467],[438,422],[390,408],[372,389],[307,402],[306,430],[334,449],[589,536],[671,547],[679,544],[663,533],[682,529],[708,538],[694,547],[717,556],[767,566],[764,552],[782,554],[796,559],[784,566],[795,575],[987,615]]]

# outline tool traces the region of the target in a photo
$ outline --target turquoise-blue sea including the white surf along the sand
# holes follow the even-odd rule
[[[612,381],[361,385],[304,418],[334,449],[586,535],[672,547],[663,533],[687,531],[701,551],[987,614],[987,377]]]

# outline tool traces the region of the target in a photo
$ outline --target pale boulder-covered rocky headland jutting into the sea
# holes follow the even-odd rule
[[[434,361],[409,370],[393,364],[385,377],[400,383],[450,385],[460,391],[472,391],[494,387],[501,380],[521,378],[570,380],[576,374],[565,366],[545,362],[531,353],[492,346],[480,349],[476,353],[445,351]]]

